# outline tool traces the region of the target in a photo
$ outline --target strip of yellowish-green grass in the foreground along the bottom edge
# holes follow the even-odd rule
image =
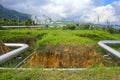
[[[0,80],[119,80],[120,68],[94,68],[83,71],[0,70]]]

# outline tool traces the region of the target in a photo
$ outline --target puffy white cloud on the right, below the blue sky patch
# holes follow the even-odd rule
[[[87,22],[99,22],[104,23],[106,21],[116,22],[118,21],[117,16],[115,15],[115,9],[111,5],[100,6],[92,9],[89,13],[83,15],[83,19]]]

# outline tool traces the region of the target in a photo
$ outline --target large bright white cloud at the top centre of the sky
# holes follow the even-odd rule
[[[84,14],[93,7],[91,0],[52,0],[50,4],[42,6],[42,9],[67,18]]]

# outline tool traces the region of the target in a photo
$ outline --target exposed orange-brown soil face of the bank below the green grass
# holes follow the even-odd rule
[[[87,68],[110,66],[114,62],[99,55],[93,45],[45,46],[36,51],[29,60],[30,67],[45,68]]]

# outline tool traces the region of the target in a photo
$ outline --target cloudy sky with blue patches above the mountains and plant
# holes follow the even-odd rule
[[[4,7],[52,19],[120,24],[120,0],[0,0]]]

